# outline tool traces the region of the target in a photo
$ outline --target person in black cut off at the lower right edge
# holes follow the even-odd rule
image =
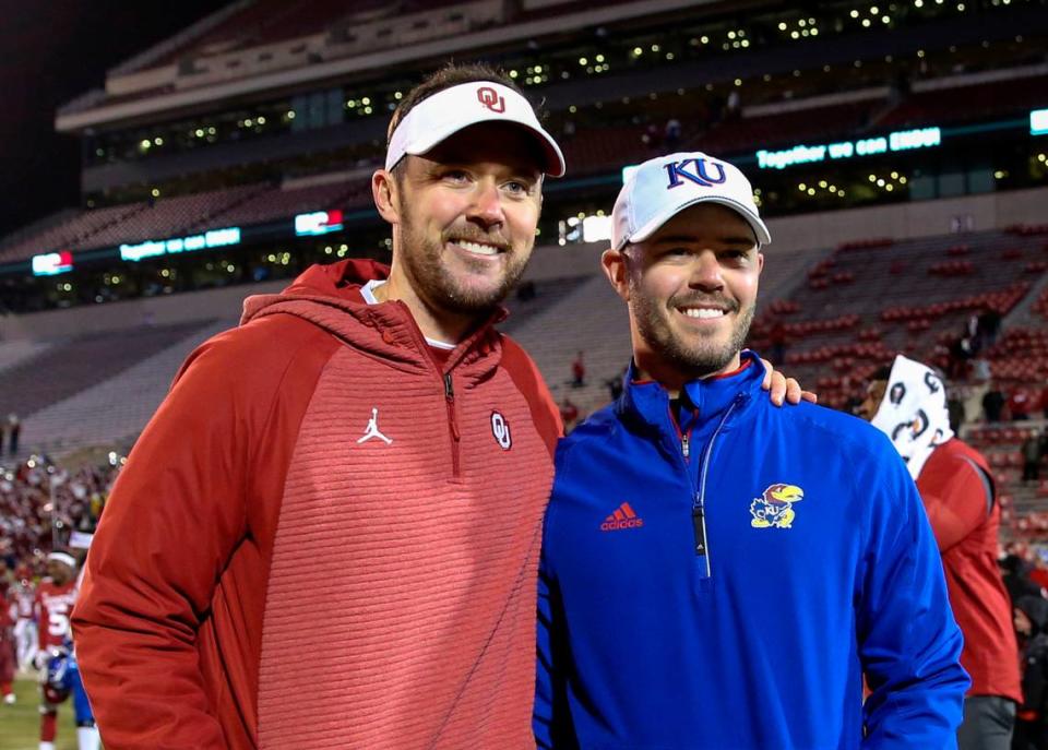
[[[1015,715],[1012,750],[1048,748],[1048,600],[1022,596],[1014,626],[1023,665],[1023,702]]]

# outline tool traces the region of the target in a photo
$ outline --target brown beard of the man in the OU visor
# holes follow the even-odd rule
[[[501,271],[491,269],[486,259],[476,259],[456,254],[451,263],[462,266],[462,271],[449,267],[443,258],[444,245],[449,238],[476,242],[509,245],[502,237],[487,235],[478,227],[467,225],[442,233],[439,241],[427,237],[419,230],[414,217],[405,211],[401,222],[402,247],[401,261],[415,281],[416,294],[440,310],[464,316],[477,316],[491,311],[510,294],[520,281],[531,257],[532,245],[523,250],[510,249],[500,252]],[[532,243],[534,240],[532,240]],[[498,275],[496,275],[498,273]]]

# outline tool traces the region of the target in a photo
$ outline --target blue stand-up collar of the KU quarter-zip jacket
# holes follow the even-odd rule
[[[761,392],[764,366],[753,352],[742,352],[741,367],[715,378],[692,380],[684,384],[682,395],[691,408],[681,409],[680,429],[702,430],[710,424],[719,422],[737,400],[751,402]],[[630,362],[626,388],[618,409],[623,417],[659,432],[672,428],[669,393],[653,380],[636,380],[636,365]]]

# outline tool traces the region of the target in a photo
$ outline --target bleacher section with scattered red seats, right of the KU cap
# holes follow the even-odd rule
[[[944,367],[972,314],[1005,316],[1026,295],[1036,278],[1027,262],[1039,254],[1001,231],[842,247],[787,297],[791,311],[762,314],[752,337],[767,347],[772,325],[784,324],[790,374],[841,406],[897,352]]]

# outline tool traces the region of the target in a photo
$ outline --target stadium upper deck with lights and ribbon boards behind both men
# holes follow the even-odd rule
[[[83,142],[84,207],[0,239],[4,303],[258,281],[348,246],[382,257],[368,177],[389,112],[452,55],[500,64],[549,112],[569,176],[547,186],[544,241],[575,241],[621,167],[667,148],[731,158],[769,215],[1045,184],[1024,118],[1048,107],[1046,46],[1048,0],[241,0],[60,110]],[[932,147],[886,146],[925,129]],[[842,143],[859,153],[795,158]],[[344,228],[293,230],[323,211]],[[150,254],[231,228],[221,252]],[[70,275],[34,278],[39,255]]]

